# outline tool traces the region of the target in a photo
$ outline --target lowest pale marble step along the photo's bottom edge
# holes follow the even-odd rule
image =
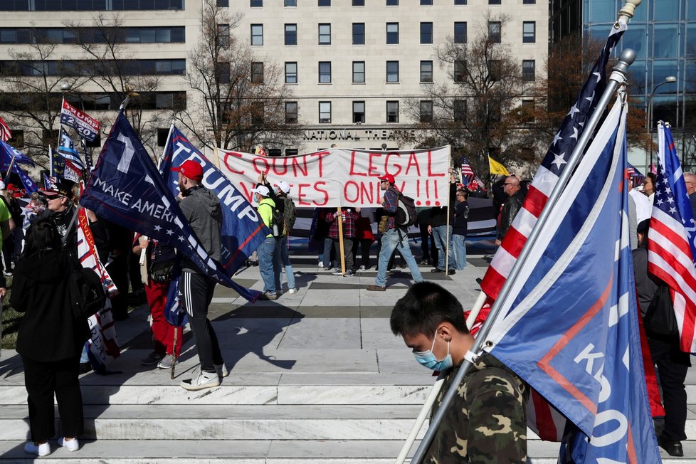
[[[368,441],[167,441],[167,440],[97,440],[80,441],[74,453],[58,448],[51,442],[51,455],[29,458],[23,451],[23,441],[0,441],[0,463],[117,464],[196,463],[214,464],[391,464],[401,450],[401,440]],[[416,443],[417,445],[418,443]],[[663,451],[663,463],[694,462],[696,442],[685,441],[684,458],[672,458]],[[415,446],[415,445],[414,445]],[[528,463],[556,464],[558,443],[529,441]],[[415,448],[411,449],[413,452]]]

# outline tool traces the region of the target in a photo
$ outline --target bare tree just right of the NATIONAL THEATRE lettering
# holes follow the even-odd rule
[[[436,49],[448,79],[421,86],[424,97],[408,100],[408,112],[423,131],[416,144],[450,144],[482,178],[490,155],[503,164],[534,159],[534,87],[524,82],[519,60],[500,41],[510,19],[488,12],[473,40],[450,36]],[[523,97],[529,97],[528,102]],[[523,101],[524,104],[523,104]]]

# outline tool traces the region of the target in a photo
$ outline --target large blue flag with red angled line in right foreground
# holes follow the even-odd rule
[[[529,243],[485,344],[574,424],[559,462],[659,463],[628,242],[621,95]]]

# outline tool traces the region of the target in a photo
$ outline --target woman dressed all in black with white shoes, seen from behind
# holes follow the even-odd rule
[[[68,297],[70,269],[79,263],[61,248],[60,235],[51,220],[33,223],[17,261],[10,297],[12,307],[24,313],[17,352],[24,364],[32,440],[24,450],[40,456],[51,453],[48,439],[56,433],[53,394],[63,435],[58,445],[77,450],[77,436],[83,432],[78,369],[89,329],[86,320],[73,316]]]

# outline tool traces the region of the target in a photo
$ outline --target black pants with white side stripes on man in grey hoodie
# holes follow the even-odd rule
[[[218,337],[208,319],[208,307],[213,300],[215,284],[215,280],[206,275],[189,270],[184,270],[179,278],[179,301],[189,315],[201,371],[206,372],[214,372],[214,364],[223,364]]]

